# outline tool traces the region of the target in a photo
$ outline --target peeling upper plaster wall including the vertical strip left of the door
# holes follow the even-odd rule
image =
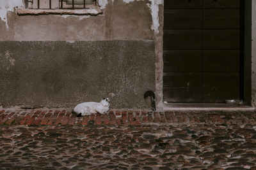
[[[154,90],[156,90],[157,108],[161,109],[163,0],[99,0],[100,8],[104,10],[104,13],[97,16],[18,16],[13,11],[13,7],[24,8],[22,0],[4,2],[4,6],[7,4],[4,10],[3,2],[0,2],[0,41],[75,43],[76,41],[154,40],[156,54],[156,89]],[[13,63],[15,64],[15,61]]]

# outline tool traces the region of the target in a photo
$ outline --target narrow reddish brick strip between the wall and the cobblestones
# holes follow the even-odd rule
[[[70,109],[0,109],[0,125],[175,125],[256,124],[256,111],[110,110],[77,118]]]

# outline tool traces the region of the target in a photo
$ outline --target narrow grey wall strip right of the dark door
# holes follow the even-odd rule
[[[256,0],[252,1],[252,105],[256,107]]]

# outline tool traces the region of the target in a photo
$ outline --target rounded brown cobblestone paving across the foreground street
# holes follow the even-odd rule
[[[0,169],[256,169],[255,112],[175,111],[164,122],[157,115],[147,115],[151,124],[138,117],[138,125],[118,124],[122,117],[115,125],[90,117],[86,125],[83,118],[26,125],[33,115],[20,125],[23,118],[8,116],[0,125]]]

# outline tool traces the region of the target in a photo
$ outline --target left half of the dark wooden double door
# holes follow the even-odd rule
[[[164,1],[164,101],[202,101],[202,0]]]

